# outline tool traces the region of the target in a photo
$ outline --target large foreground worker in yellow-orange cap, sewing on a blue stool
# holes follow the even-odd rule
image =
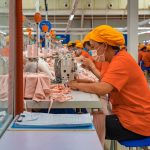
[[[68,86],[99,96],[109,94],[112,114],[101,116],[101,142],[104,137],[132,140],[150,136],[150,89],[136,61],[126,50],[119,49],[125,43],[122,33],[101,25],[93,29],[90,43],[97,50],[99,61],[110,63],[106,73],[98,83],[74,80]]]

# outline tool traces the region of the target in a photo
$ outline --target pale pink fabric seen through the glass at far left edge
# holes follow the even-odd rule
[[[8,100],[8,75],[0,75],[0,100]]]

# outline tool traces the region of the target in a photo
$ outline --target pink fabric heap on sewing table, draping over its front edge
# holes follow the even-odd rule
[[[50,78],[42,73],[24,75],[24,98],[35,101],[64,102],[72,99],[71,90],[63,84],[51,85]]]

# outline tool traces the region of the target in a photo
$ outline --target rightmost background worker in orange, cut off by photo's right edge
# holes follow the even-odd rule
[[[142,61],[145,67],[150,67],[150,45],[146,46],[146,52],[142,55]]]

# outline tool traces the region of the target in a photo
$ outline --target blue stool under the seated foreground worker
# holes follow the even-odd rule
[[[129,150],[133,150],[134,147],[136,147],[136,150],[149,150],[148,146],[150,146],[150,137],[138,139],[138,140],[123,140],[118,141],[121,145],[125,147],[129,147]],[[111,147],[111,150],[117,150],[116,143],[111,143],[113,148]]]

